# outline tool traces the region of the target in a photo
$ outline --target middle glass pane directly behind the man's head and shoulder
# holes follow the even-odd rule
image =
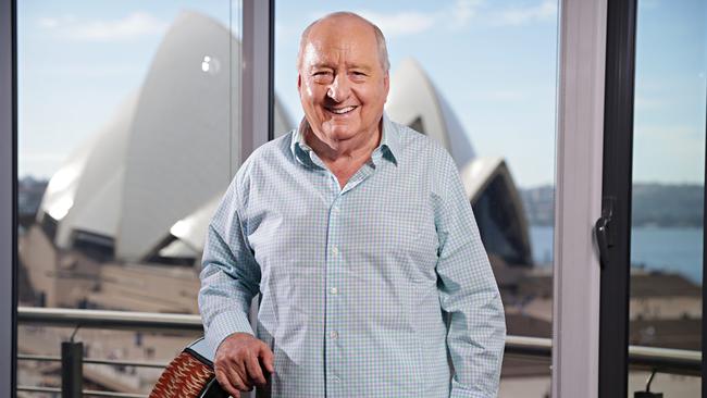
[[[360,13],[386,36],[390,119],[437,139],[455,159],[508,334],[549,338],[557,2],[277,1],[275,95],[284,112],[276,136],[303,116],[300,34],[339,10]],[[501,377],[501,397],[545,397],[549,359],[506,356]]]

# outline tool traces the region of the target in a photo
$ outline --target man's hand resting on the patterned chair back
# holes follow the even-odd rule
[[[233,398],[240,398],[240,391],[250,391],[253,384],[264,386],[268,381],[260,366],[275,372],[273,352],[264,343],[248,333],[234,333],[221,343],[213,361],[219,384]]]

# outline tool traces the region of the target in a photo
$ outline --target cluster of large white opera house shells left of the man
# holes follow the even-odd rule
[[[231,154],[239,142],[230,137],[238,136],[239,107],[230,104],[239,82],[230,66],[239,67],[239,49],[214,20],[176,18],[136,98],[50,181],[38,217],[59,221],[58,246],[84,229],[114,238],[117,258],[138,260],[175,220],[222,195],[238,166]]]

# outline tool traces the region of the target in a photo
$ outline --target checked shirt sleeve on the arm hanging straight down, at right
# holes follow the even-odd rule
[[[506,339],[504,307],[457,167],[448,156],[443,163],[436,272],[455,371],[450,397],[496,397]]]

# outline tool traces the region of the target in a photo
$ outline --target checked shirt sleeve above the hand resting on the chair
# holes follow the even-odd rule
[[[253,334],[248,310],[260,286],[260,266],[239,216],[237,181],[234,178],[209,224],[199,275],[199,312],[207,344],[214,352],[234,333]]]

